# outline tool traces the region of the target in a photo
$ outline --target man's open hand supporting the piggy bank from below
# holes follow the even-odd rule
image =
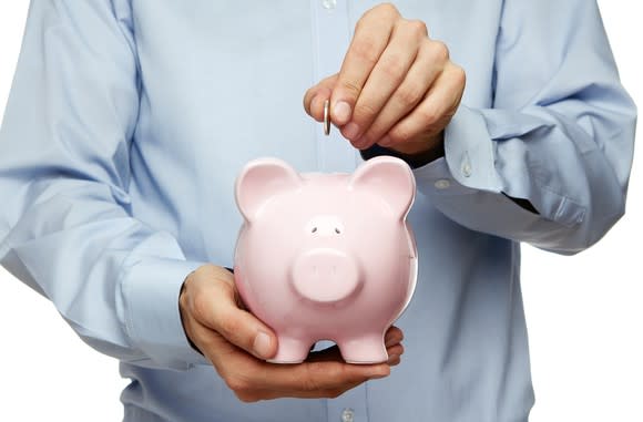
[[[234,276],[206,265],[192,272],[180,297],[185,333],[213,363],[239,400],[254,402],[283,397],[335,398],[374,379],[387,377],[400,362],[402,332],[391,327],[386,334],[389,360],[380,364],[348,364],[337,347],[299,364],[267,363],[277,351],[274,332],[243,309]]]

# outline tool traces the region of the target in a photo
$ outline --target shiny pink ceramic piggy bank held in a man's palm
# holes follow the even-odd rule
[[[298,174],[276,158],[243,168],[234,275],[246,307],[277,334],[269,361],[302,362],[318,340],[336,342],[346,362],[387,361],[384,334],[417,279],[406,222],[415,192],[408,165],[390,156],[353,174]]]

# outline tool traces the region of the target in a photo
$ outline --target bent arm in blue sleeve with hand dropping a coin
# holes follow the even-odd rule
[[[381,4],[304,106],[320,121],[330,97],[333,122],[365,158],[407,159],[457,223],[583,250],[623,215],[636,121],[595,1],[504,1],[494,64],[493,106],[459,105],[463,72],[446,47]]]

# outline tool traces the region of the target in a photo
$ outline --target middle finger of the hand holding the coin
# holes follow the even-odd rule
[[[388,99],[405,80],[426,39],[427,27],[423,22],[398,21],[388,45],[357,99],[350,122],[341,127],[344,137],[353,142],[368,130]],[[354,146],[359,147],[355,143]]]

